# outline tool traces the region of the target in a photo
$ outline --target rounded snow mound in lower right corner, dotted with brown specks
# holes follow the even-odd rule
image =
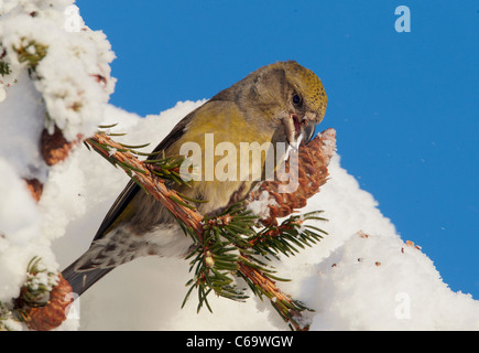
[[[432,260],[396,237],[352,236],[315,270],[304,285],[316,293],[305,297],[318,311],[313,330],[478,329],[477,302],[451,292]]]

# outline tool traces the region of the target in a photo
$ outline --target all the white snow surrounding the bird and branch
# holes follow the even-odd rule
[[[181,118],[205,103],[183,101],[146,117],[109,105],[115,79],[109,77],[108,63],[113,54],[108,41],[102,33],[89,30],[62,31],[62,15],[72,13],[65,12],[72,1],[50,2],[54,6],[45,9],[44,1],[0,1],[3,13],[11,10],[0,18],[3,46],[22,35],[50,45],[48,61],[37,67],[41,81],[32,81],[10,52],[7,58],[14,79],[0,76],[6,83],[0,94],[4,95],[0,103],[3,304],[18,296],[34,256],[42,257],[48,270],[61,270],[81,255],[128,182],[124,172],[81,143],[65,161],[46,167],[36,148],[45,113],[68,131],[68,138],[87,136],[98,125],[118,124],[115,132],[128,132],[116,138],[118,141],[152,142],[153,149]],[[29,19],[28,11],[40,14]],[[106,85],[91,76],[98,73],[107,78]],[[76,111],[68,107],[78,87],[83,87],[81,109]],[[325,129],[327,124],[326,119]],[[340,136],[338,146],[340,152]],[[374,197],[341,167],[338,154],[331,159],[329,172],[329,181],[302,210],[323,210],[328,222],[316,225],[328,235],[314,247],[275,263],[279,275],[292,279],[280,284],[283,291],[315,310],[307,313],[311,329],[479,330],[479,302],[451,291],[434,259],[427,257],[427,249],[411,246],[398,235]],[[44,182],[37,204],[30,197],[24,178]],[[184,259],[135,259],[77,299],[58,330],[287,330],[270,303],[258,298],[233,302],[210,296],[214,313],[206,309],[196,313],[192,296],[181,309],[190,276]],[[8,318],[8,313],[0,312],[0,318]],[[25,329],[10,318],[3,323]]]

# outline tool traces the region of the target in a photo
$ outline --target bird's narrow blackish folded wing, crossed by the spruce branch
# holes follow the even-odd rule
[[[185,133],[185,129],[187,128],[187,125],[192,120],[193,116],[194,111],[183,118],[173,128],[173,130],[160,142],[160,145],[156,146],[153,152],[166,150],[172,143],[178,140]],[[156,157],[152,156],[150,158]],[[97,234],[94,237],[94,242],[101,238],[106,234],[106,231],[115,223],[115,221],[118,220],[118,217],[123,213],[123,211],[130,204],[131,200],[137,195],[140,190],[140,186],[137,185],[134,181],[130,180],[130,182],[115,201],[113,205],[110,207],[110,211],[108,211],[107,215],[105,216],[104,222],[101,223],[100,227],[97,231]]]

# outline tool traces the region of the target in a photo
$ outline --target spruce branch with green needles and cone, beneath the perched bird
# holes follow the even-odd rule
[[[179,174],[175,174],[183,160],[165,159],[163,154],[161,157],[148,153],[140,154],[135,149],[144,146],[121,145],[113,141],[111,136],[111,133],[99,132],[92,138],[86,139],[85,143],[113,165],[123,169],[145,192],[170,210],[177,217],[185,233],[189,234],[197,245],[187,257],[190,260],[189,270],[194,277],[186,284],[189,289],[183,306],[194,289],[197,290],[198,295],[198,311],[204,306],[213,311],[207,299],[211,292],[231,300],[244,301],[248,298],[246,288],[238,288],[236,284],[236,278],[242,278],[255,296],[261,299],[266,297],[271,301],[273,308],[289,322],[292,329],[307,329],[302,312],[308,309],[279,289],[276,281],[286,279],[277,277],[274,268],[269,266],[266,261],[269,260],[268,256],[277,258],[280,254],[294,255],[301,248],[312,246],[320,240],[322,234],[326,234],[326,232],[306,223],[311,220],[325,221],[318,216],[318,212],[293,215],[277,225],[275,215],[284,216],[285,212],[284,210],[274,212],[274,207],[271,207],[274,216],[270,217],[269,222],[263,222],[265,225],[260,231],[257,227],[258,221],[260,221],[259,216],[252,214],[244,202],[230,206],[214,218],[203,217],[188,204],[187,200],[167,189],[163,182],[163,179],[183,182],[176,180]],[[317,149],[319,140],[316,139],[316,146],[313,143],[314,147],[309,149]],[[305,150],[305,147],[303,146],[302,149]],[[149,159],[139,161],[138,156],[148,156]],[[308,151],[306,154],[300,154],[300,160],[307,163],[306,167],[303,165],[303,169],[300,167],[300,185],[302,188],[296,194],[287,195],[290,199],[282,195],[283,203],[281,200],[279,203],[280,207],[283,208],[289,206],[290,213],[294,211],[294,206],[298,205],[297,200],[302,206],[302,200],[317,192],[319,185],[324,184],[327,178],[325,158],[317,158],[314,152]],[[307,172],[304,171],[305,168]],[[313,181],[315,184],[311,188]],[[308,188],[305,188],[305,184]],[[264,182],[263,185],[262,191],[270,191],[273,196],[276,196],[274,191],[279,186],[277,183]],[[307,192],[306,189],[313,191]],[[254,200],[254,195],[251,195],[249,201],[252,200]],[[287,200],[290,204],[285,204],[284,200]],[[293,206],[292,201],[296,201]]]

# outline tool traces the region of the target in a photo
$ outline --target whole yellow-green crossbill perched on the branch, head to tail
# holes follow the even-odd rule
[[[275,149],[281,142],[294,145],[300,137],[308,141],[325,115],[326,103],[323,84],[311,69],[294,61],[277,62],[252,72],[188,114],[154,151],[175,157],[182,146],[194,142],[205,153],[206,137],[213,138],[215,147],[228,146],[237,151],[241,151],[242,143],[271,143]],[[236,156],[238,162],[241,153]],[[264,175],[262,159],[255,164],[260,171],[248,165],[242,174],[238,168],[238,178],[224,180],[214,175],[210,180],[208,169],[219,158],[205,157],[192,188],[168,185],[190,199],[207,201],[196,204],[202,215],[214,215],[244,199],[258,182],[248,176],[257,172]],[[192,238],[185,236],[173,215],[130,181],[106,215],[89,249],[63,271],[63,277],[74,292],[81,295],[121,264],[148,255],[186,256],[192,245]]]

